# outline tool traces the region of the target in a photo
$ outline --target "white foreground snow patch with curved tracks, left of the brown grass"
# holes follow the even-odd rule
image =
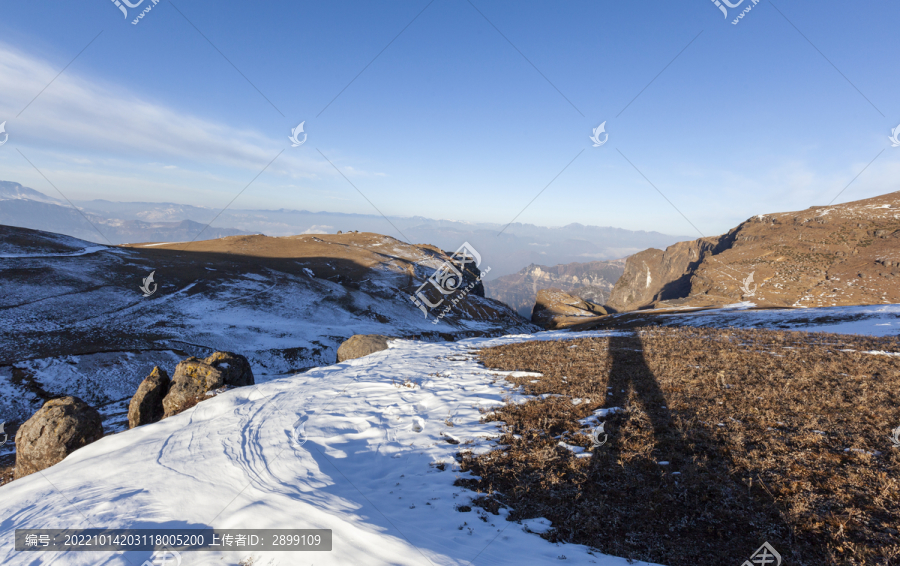
[[[592,332],[577,337],[606,336]],[[16,528],[332,529],[315,554],[187,554],[183,564],[624,565],[552,544],[540,519],[505,520],[455,487],[455,454],[496,446],[483,411],[514,394],[472,350],[563,332],[428,344],[394,341],[365,358],[240,388],[160,423],[104,437],[56,466],[0,487],[0,563]],[[531,377],[538,377],[533,374]],[[298,430],[302,431],[298,435]],[[304,436],[304,443],[296,442]],[[41,554],[44,564],[141,564],[113,553]]]

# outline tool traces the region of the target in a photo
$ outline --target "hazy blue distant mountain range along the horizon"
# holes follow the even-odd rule
[[[78,210],[66,200],[19,183],[0,181],[0,224],[8,226],[46,230],[100,244],[186,242],[240,234],[333,234],[338,230],[388,234],[449,251],[469,242],[481,254],[484,265],[491,267],[488,281],[531,264],[611,260],[686,239],[659,232],[581,224],[548,228],[515,223],[503,230],[500,224],[421,216],[385,219],[371,214],[287,209],[228,209],[220,214],[220,209],[210,207],[107,200],[76,200],[72,204]],[[213,221],[215,226],[204,228]]]

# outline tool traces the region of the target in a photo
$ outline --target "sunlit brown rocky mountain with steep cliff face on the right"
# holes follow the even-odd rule
[[[826,307],[900,302],[900,192],[760,214],[727,234],[628,258],[608,305]]]

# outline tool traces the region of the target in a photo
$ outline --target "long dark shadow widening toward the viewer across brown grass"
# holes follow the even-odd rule
[[[753,497],[732,475],[726,446],[705,428],[689,426],[696,410],[679,406],[673,418],[640,336],[611,337],[609,357],[605,406],[632,405],[607,417],[608,444],[594,450],[582,489],[593,505],[609,509],[606,524],[592,529],[598,548],[668,566],[737,565],[766,538],[783,541],[776,532],[783,534],[784,524],[771,500]]]

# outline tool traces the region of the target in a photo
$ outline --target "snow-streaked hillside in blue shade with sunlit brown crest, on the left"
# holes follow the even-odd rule
[[[353,334],[536,329],[477,286],[436,324],[426,319],[409,295],[446,258],[378,234],[106,247],[0,227],[0,414],[21,422],[62,394],[106,405],[154,365],[214,350],[245,355],[264,381],[332,363]]]

